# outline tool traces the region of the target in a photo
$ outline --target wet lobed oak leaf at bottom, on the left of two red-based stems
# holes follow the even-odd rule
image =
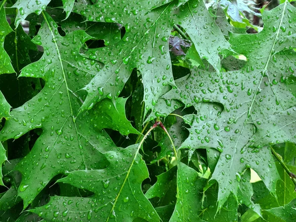
[[[87,221],[132,222],[143,218],[148,222],[159,222],[155,209],[141,189],[142,182],[148,178],[148,169],[139,149],[136,144],[104,152],[110,162],[107,168],[73,171],[58,180],[92,191],[93,196],[54,196],[48,204],[30,212],[39,215],[42,212],[41,217],[48,221],[85,217]]]

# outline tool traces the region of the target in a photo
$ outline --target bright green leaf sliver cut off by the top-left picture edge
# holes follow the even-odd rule
[[[5,1],[0,1],[0,74],[15,73],[10,58],[3,48],[5,37],[12,32],[5,15]]]

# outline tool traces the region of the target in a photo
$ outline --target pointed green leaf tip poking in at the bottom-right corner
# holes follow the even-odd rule
[[[271,208],[265,211],[278,218],[281,218],[285,222],[294,222],[296,218],[296,199],[292,200],[285,206]]]

